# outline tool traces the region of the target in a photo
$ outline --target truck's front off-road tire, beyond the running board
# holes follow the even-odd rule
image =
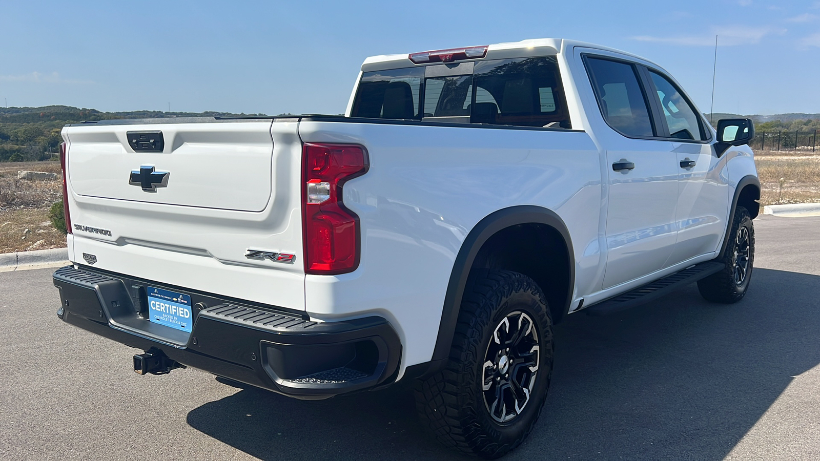
[[[740,301],[749,289],[754,264],[754,225],[746,208],[736,208],[727,248],[716,261],[723,262],[726,267],[698,281],[700,295],[715,303]],[[737,281],[739,271],[742,272],[740,283]]]

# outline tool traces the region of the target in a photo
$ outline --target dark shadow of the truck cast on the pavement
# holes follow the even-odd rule
[[[753,277],[739,304],[690,285],[625,313],[568,316],[544,412],[505,459],[723,459],[820,363],[820,276]],[[188,423],[260,459],[458,458],[428,435],[406,385],[318,402],[239,390]]]

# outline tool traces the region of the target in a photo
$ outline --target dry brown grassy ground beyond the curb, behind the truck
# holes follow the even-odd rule
[[[760,204],[820,203],[820,151],[754,153],[760,176]],[[0,253],[66,246],[48,221],[48,208],[62,199],[61,180],[18,180],[17,171],[60,174],[59,162],[0,163]]]

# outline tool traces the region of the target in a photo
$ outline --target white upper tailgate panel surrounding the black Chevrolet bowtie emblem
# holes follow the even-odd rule
[[[69,129],[71,187],[89,197],[260,212],[271,197],[270,128],[253,121]],[[140,135],[159,152],[134,150]],[[144,165],[167,172],[168,184],[146,194],[130,182]]]

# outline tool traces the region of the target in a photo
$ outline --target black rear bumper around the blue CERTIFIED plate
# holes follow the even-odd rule
[[[167,358],[217,376],[299,399],[389,384],[401,343],[382,317],[312,322],[296,313],[225,301],[179,287],[194,302],[191,333],[149,322],[144,287],[163,287],[87,268],[54,273],[62,305],[57,316],[124,345],[157,349]]]

